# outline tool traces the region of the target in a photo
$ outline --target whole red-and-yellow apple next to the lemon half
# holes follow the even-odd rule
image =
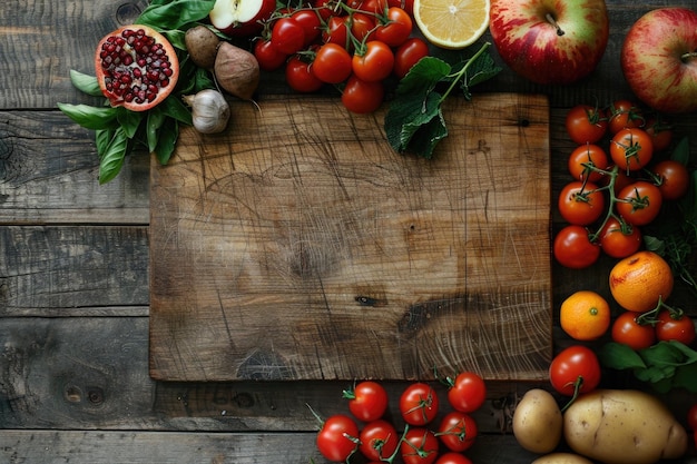
[[[571,83],[608,43],[605,0],[491,0],[489,30],[501,59],[538,83]]]

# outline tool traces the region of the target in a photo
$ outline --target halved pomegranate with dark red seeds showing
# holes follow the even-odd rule
[[[99,41],[95,56],[97,80],[111,106],[145,111],[174,90],[179,60],[169,41],[156,30],[124,26]]]

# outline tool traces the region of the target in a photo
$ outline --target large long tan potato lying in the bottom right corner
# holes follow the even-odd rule
[[[687,433],[654,396],[597,389],[563,415],[563,434],[577,453],[606,464],[651,464],[687,452]]]

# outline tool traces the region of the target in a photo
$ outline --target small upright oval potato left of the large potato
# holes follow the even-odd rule
[[[549,453],[561,440],[562,416],[554,397],[541,388],[528,391],[513,412],[513,435],[532,453]]]

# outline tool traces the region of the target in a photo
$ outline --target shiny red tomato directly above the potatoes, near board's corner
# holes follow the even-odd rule
[[[549,366],[552,387],[562,395],[573,396],[577,383],[579,393],[588,393],[600,383],[600,362],[592,349],[572,345],[552,359]]]

